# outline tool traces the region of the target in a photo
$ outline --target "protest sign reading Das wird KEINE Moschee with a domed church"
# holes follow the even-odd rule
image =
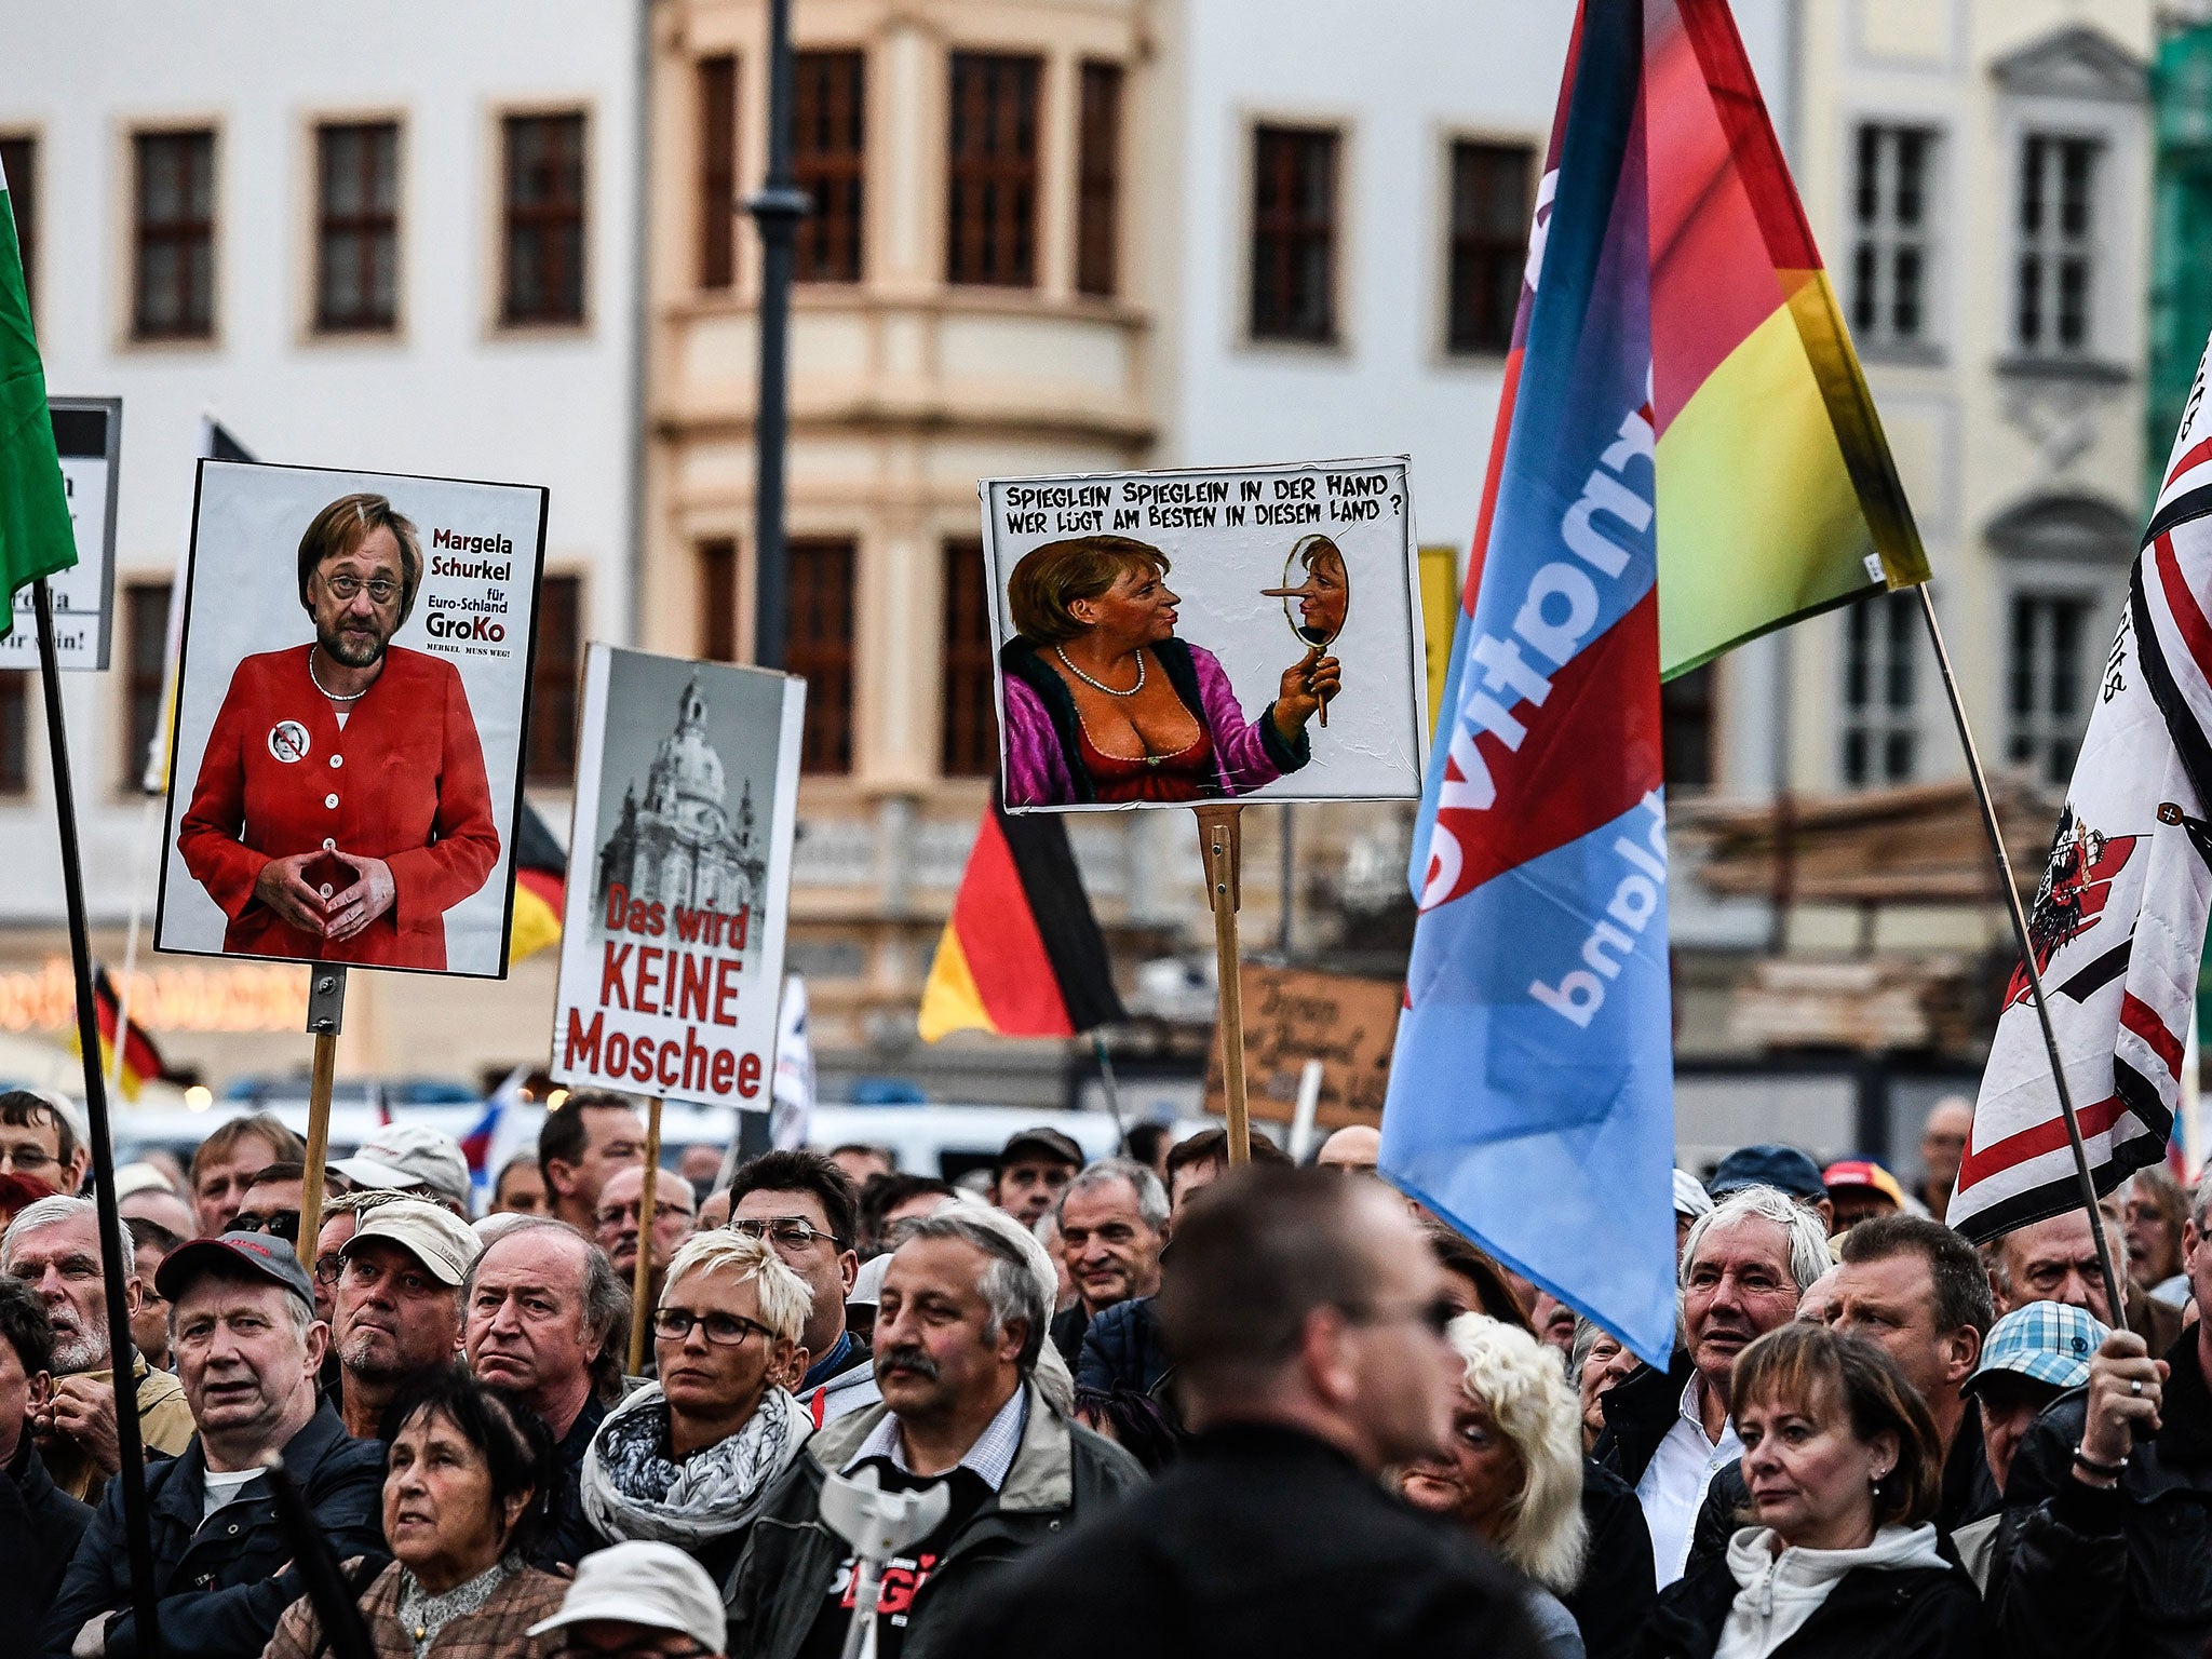
[[[805,681],[593,644],[553,1077],[768,1110]]]

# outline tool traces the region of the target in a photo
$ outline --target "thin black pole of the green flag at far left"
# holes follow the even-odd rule
[[[38,675],[46,701],[46,745],[53,754],[53,814],[62,834],[62,894],[69,905],[69,956],[77,975],[77,1048],[84,1062],[84,1117],[93,1141],[93,1206],[100,1212],[100,1276],[106,1281],[108,1376],[115,1385],[115,1478],[124,1486],[124,1546],[131,1557],[131,1610],[139,1652],[161,1652],[159,1606],[153,1582],[153,1517],[146,1506],[146,1447],[139,1438],[137,1380],[131,1363],[131,1263],[115,1259],[115,1239],[128,1239],[115,1199],[115,1137],[108,1128],[108,1091],[100,1064],[100,1015],[93,1009],[93,940],[84,916],[84,858],[77,849],[77,796],[69,776],[69,730],[62,719],[62,672],[53,646],[53,595],[46,577],[31,584],[38,611]],[[117,1046],[122,1046],[117,1033]]]

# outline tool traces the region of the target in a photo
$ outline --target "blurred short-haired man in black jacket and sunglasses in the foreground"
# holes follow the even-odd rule
[[[1398,1197],[1234,1170],[1177,1223],[1159,1314],[1190,1458],[1013,1568],[953,1652],[1537,1652],[1511,1575],[1376,1480],[1442,1447],[1464,1369]]]

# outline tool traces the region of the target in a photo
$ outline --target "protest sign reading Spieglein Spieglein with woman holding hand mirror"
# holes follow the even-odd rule
[[[1009,812],[1420,794],[1402,456],[980,491]]]

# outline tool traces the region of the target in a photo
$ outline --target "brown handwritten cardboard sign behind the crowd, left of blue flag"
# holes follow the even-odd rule
[[[1398,1035],[1398,980],[1358,980],[1305,969],[1243,969],[1245,1088],[1252,1117],[1287,1124],[1298,1102],[1298,1073],[1321,1062],[1323,1128],[1383,1124],[1383,1086]],[[1206,1068],[1206,1110],[1228,1110],[1221,1079],[1221,1035]]]

